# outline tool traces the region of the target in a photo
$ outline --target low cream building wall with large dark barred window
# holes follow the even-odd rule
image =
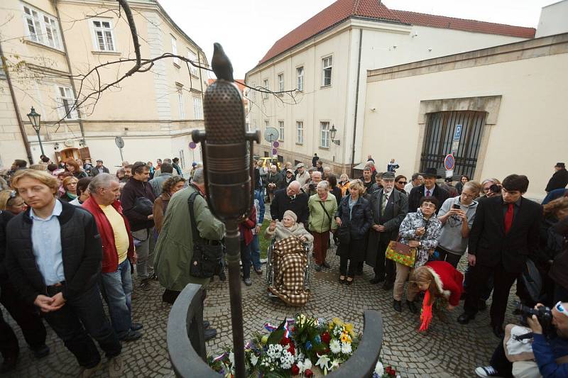
[[[408,177],[444,175],[459,126],[454,178],[526,174],[542,199],[568,160],[566,67],[568,33],[369,71],[363,148]]]

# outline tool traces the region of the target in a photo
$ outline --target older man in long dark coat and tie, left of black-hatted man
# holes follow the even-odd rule
[[[388,290],[395,282],[395,264],[385,259],[385,251],[388,243],[396,240],[400,223],[408,213],[408,197],[394,189],[393,172],[383,173],[382,184],[370,198],[373,226],[368,234],[366,263],[375,270],[375,277],[369,282],[378,284],[384,280],[383,289]]]

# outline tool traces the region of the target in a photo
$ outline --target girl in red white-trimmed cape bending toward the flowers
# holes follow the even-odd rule
[[[459,305],[459,297],[464,291],[463,282],[464,274],[445,261],[430,261],[414,270],[410,277],[410,289],[425,291],[420,316],[421,331],[427,330],[430,326],[432,306],[436,299],[447,299],[449,311]]]

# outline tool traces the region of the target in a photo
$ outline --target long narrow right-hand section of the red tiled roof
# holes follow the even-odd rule
[[[464,18],[454,18],[446,16],[435,16],[433,14],[416,13],[408,11],[391,11],[403,23],[411,25],[430,26],[431,28],[444,28],[454,30],[471,31],[473,33],[487,33],[509,35],[518,38],[535,38],[535,28],[525,28],[523,26],[505,25],[503,23],[491,23],[476,20],[465,20]]]

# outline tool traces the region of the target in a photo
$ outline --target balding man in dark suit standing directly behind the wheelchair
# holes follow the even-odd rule
[[[282,221],[286,210],[293,211],[297,216],[297,221],[307,226],[307,194],[302,193],[300,183],[290,182],[286,189],[274,192],[271,202],[271,216],[274,221]]]

